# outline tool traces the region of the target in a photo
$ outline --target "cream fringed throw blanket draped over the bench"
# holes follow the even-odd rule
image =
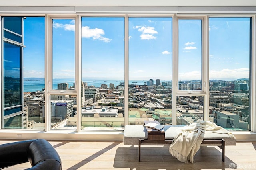
[[[177,129],[169,152],[180,162],[193,163],[194,156],[204,139],[204,133],[224,133],[234,138],[229,131],[210,121],[200,121]]]

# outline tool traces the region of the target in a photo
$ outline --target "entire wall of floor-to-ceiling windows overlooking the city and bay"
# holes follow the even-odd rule
[[[2,128],[121,131],[128,115],[128,124],[209,120],[250,130],[252,21],[193,14],[2,17]]]

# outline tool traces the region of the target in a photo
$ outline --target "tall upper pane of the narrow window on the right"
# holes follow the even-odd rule
[[[179,90],[202,89],[202,20],[179,19]]]

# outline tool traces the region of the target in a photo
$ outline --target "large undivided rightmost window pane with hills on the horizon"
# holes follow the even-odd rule
[[[230,130],[250,130],[250,17],[209,18],[210,110]]]

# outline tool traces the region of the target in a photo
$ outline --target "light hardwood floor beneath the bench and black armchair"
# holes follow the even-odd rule
[[[2,143],[14,141],[2,140]],[[216,146],[201,146],[196,162],[184,164],[172,157],[168,145],[143,145],[141,162],[138,146],[123,145],[122,141],[49,141],[59,153],[63,170],[256,170],[256,141],[237,142],[226,146],[225,162]],[[30,163],[5,170],[30,168]]]

